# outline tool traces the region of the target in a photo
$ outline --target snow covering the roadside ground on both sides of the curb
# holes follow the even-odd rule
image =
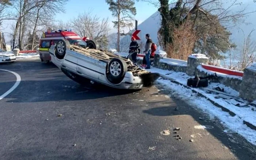
[[[163,75],[164,77],[169,77],[175,81],[178,81],[181,84],[187,84],[187,79],[190,77],[186,73],[182,72],[173,72],[162,70],[158,68],[148,69],[153,73],[157,72]],[[197,92],[205,95],[207,98],[213,100],[215,103],[221,104],[228,108],[230,111],[236,114],[236,116],[231,117],[229,113],[222,111],[221,108],[214,106],[210,101],[200,96],[197,96],[196,93],[193,93],[191,89],[185,88],[181,85],[172,83],[170,80],[163,80],[162,78],[157,80],[159,83],[165,85],[166,88],[170,88],[174,91],[174,93],[178,94],[181,99],[189,102],[192,106],[200,108],[205,113],[209,114],[211,118],[217,117],[223,126],[227,127],[229,132],[236,132],[241,136],[245,137],[249,142],[256,145],[256,131],[252,130],[248,126],[243,123],[243,120],[256,125],[256,112],[252,110],[252,106],[250,107],[238,107],[232,103],[234,103],[233,99],[223,100],[222,98],[215,98],[216,95],[208,94],[200,88],[193,88]],[[235,91],[230,87],[226,87],[223,84],[219,83],[211,83],[208,88],[212,89],[215,87],[224,88],[225,92],[234,96],[238,96],[239,92]],[[255,108],[254,108],[255,109]]]

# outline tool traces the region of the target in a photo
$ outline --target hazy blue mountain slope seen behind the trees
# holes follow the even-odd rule
[[[228,4],[226,4],[228,5]],[[174,7],[175,4],[171,4],[170,8]],[[233,11],[238,11],[241,8],[246,7],[245,12],[251,12],[253,10],[256,10],[256,3],[253,3],[253,0],[242,0],[242,4],[237,7],[233,7]],[[242,46],[244,43],[244,34],[242,33],[241,29],[245,33],[245,37],[253,30],[253,28],[256,29],[256,19],[255,19],[256,13],[248,14],[246,17],[244,17],[245,23],[239,23],[235,27],[229,28],[232,35],[230,36],[230,40],[234,43],[236,43],[237,48],[233,50],[232,52],[241,52]],[[141,32],[138,34],[141,41],[138,41],[139,43],[144,44],[146,42],[145,34],[150,34],[151,39],[153,42],[158,44],[158,29],[161,24],[161,16],[159,12],[155,12],[153,15],[151,15],[149,18],[144,20],[144,22],[140,23],[138,25],[138,30],[141,30]],[[133,30],[134,31],[134,30]],[[130,34],[133,32],[131,31]],[[116,48],[116,34],[109,35],[109,40],[111,41],[109,43],[109,48]],[[127,52],[129,43],[131,39],[131,35],[126,35],[121,38],[121,52]],[[253,32],[251,36],[252,42],[256,42],[256,30]]]

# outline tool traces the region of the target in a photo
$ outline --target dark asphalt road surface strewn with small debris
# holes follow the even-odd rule
[[[217,120],[208,120],[172,92],[160,91],[160,85],[136,93],[80,86],[53,64],[39,61],[1,64],[0,69],[22,79],[0,100],[1,160],[256,159],[254,146],[224,133]],[[15,81],[0,71],[0,95]],[[181,128],[177,134],[176,127]]]

